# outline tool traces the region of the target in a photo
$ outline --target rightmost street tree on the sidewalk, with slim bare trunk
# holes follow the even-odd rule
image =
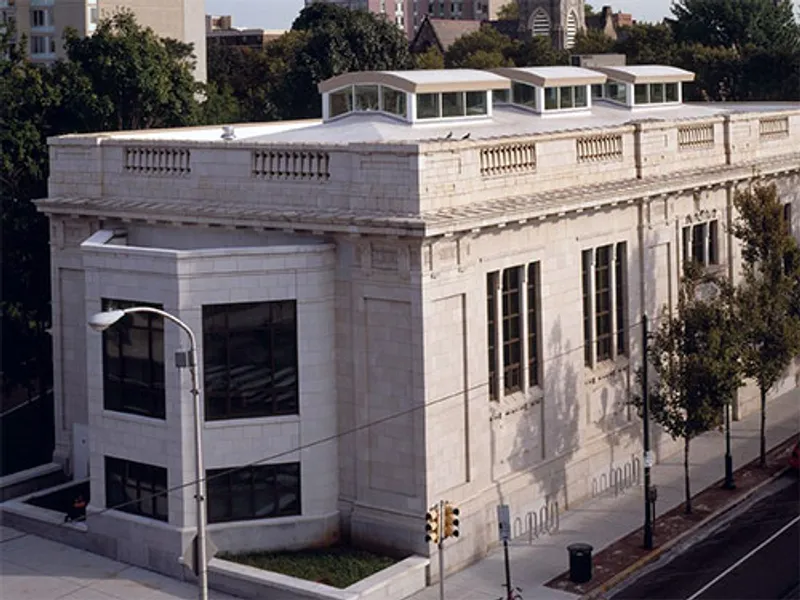
[[[743,281],[737,291],[742,315],[744,374],[761,400],[761,466],[766,465],[767,394],[800,352],[800,320],[792,306],[800,286],[797,242],[783,218],[775,184],[737,192],[734,235],[742,244]]]

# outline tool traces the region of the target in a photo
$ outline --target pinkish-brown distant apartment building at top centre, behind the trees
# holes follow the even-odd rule
[[[386,15],[405,31],[408,39],[414,34],[426,16],[451,20],[494,20],[498,9],[507,0],[306,0],[306,6],[314,2],[338,4],[353,10],[368,10]]]

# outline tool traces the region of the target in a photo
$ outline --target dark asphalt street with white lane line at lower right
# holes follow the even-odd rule
[[[664,556],[612,600],[763,600],[797,598],[800,582],[800,485],[787,474],[757,498]]]

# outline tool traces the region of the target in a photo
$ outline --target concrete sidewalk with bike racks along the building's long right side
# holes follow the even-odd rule
[[[759,453],[759,411],[731,426],[731,454],[734,469]],[[800,389],[794,389],[767,404],[767,447],[770,448],[800,431]],[[725,438],[721,432],[708,432],[692,441],[690,475],[692,495],[724,477]],[[656,511],[662,514],[683,502],[683,453],[667,457],[652,469],[652,483],[658,486]],[[644,521],[642,486],[616,498],[587,501],[561,515],[557,533],[534,539],[527,536],[509,548],[511,581],[522,588],[525,600],[575,600],[578,596],[560,592],[544,584],[567,570],[567,546],[587,542],[597,553],[612,542],[641,527]],[[433,566],[432,568],[435,568]],[[452,600],[504,599],[505,587],[502,547],[483,560],[445,579],[445,596]],[[429,586],[409,600],[437,600],[438,584]]]

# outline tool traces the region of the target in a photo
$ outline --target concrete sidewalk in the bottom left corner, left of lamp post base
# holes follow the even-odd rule
[[[197,586],[0,526],[3,600],[174,600]],[[209,590],[213,600],[234,600]]]

